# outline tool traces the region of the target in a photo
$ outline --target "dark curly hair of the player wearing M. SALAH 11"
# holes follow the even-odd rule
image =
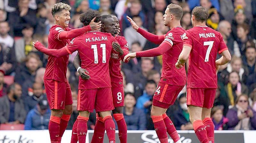
[[[81,23],[84,24],[84,26],[87,26],[90,24],[91,20],[96,17],[95,22],[100,21],[100,12],[95,11],[92,9],[88,9],[86,12],[80,14],[79,20]]]

